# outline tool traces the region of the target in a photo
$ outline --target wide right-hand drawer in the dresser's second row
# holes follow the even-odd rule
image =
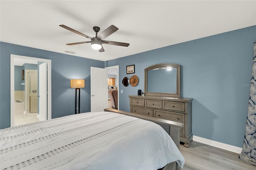
[[[185,124],[184,114],[182,113],[154,110],[154,115],[156,118],[166,119],[169,121],[180,122]]]

